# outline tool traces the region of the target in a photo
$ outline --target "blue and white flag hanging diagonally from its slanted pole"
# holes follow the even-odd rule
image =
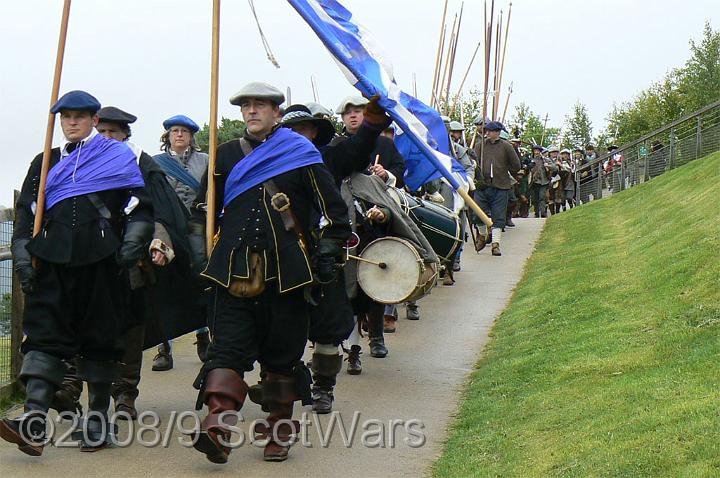
[[[463,179],[465,173],[450,156],[450,140],[440,114],[398,87],[392,65],[352,13],[336,0],[288,2],[325,44],[348,81],[368,98],[379,95],[380,106],[402,129],[396,145],[407,166],[405,183],[415,190],[444,177],[453,188],[460,188],[452,171]]]

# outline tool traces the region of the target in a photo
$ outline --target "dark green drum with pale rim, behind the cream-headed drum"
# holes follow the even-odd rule
[[[388,193],[420,228],[440,260],[453,260],[462,242],[458,216],[445,206],[410,196],[400,189],[390,188]]]

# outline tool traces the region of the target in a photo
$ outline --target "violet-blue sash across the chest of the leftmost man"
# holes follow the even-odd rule
[[[126,144],[98,134],[48,172],[45,208],[70,197],[144,186],[135,153]]]

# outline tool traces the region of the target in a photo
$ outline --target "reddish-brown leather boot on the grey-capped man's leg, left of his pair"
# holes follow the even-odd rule
[[[237,415],[223,412],[238,411],[247,396],[248,386],[242,375],[230,368],[214,368],[205,377],[203,402],[208,414],[200,425],[200,432],[192,434],[194,447],[213,463],[227,463],[230,455],[230,426],[237,423]]]

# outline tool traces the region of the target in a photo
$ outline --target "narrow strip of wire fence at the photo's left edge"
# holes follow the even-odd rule
[[[12,237],[11,214],[0,210],[0,386],[11,382],[12,373]]]

